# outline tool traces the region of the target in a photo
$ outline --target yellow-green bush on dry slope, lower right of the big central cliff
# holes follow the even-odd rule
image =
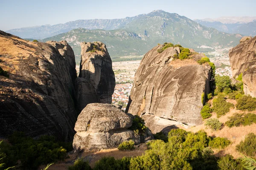
[[[224,94],[220,93],[215,99],[212,100],[212,109],[217,114],[217,117],[225,115],[230,111],[230,108],[234,107],[232,103],[226,102],[224,97]]]

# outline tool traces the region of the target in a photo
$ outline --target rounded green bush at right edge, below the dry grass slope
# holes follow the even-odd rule
[[[256,156],[256,135],[254,133],[249,133],[244,141],[241,141],[236,145],[236,150],[246,156]]]

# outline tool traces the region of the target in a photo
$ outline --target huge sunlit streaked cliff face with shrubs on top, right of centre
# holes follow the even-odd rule
[[[148,51],[140,62],[126,111],[133,115],[146,113],[190,125],[200,124],[201,94],[209,92],[211,68],[196,62],[204,57],[202,54],[172,61],[178,51],[170,47],[158,54],[157,49],[162,46]]]

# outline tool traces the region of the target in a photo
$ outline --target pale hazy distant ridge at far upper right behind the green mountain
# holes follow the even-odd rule
[[[256,35],[256,17],[219,17],[194,21],[230,34]]]

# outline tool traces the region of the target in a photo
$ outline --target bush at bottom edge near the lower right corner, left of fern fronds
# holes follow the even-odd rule
[[[220,170],[244,170],[241,163],[229,154],[218,160],[218,167]]]

